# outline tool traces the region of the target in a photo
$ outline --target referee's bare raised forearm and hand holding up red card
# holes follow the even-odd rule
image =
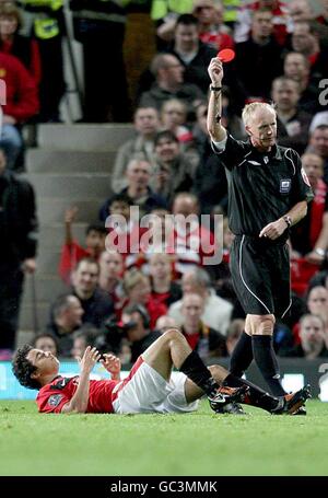
[[[226,131],[221,125],[222,114],[222,79],[223,79],[223,67],[222,62],[218,57],[214,57],[209,66],[209,76],[211,79],[210,85],[210,101],[208,109],[208,131],[211,139],[214,142],[220,142],[225,139]]]

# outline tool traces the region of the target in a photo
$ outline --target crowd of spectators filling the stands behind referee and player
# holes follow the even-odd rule
[[[328,1],[320,2],[315,18],[306,0],[239,7],[195,0],[169,8],[154,0],[159,53],[129,95],[122,55],[129,4],[71,0],[74,37],[83,45],[83,120],[128,121],[133,109],[136,136],[117,152],[112,190],[99,199],[98,223],[87,228],[84,245],[74,239],[77,209],[66,212],[58,271],[68,290],[54,299],[35,347],[72,358],[96,346],[130,363],[166,326],[177,325],[202,359],[231,356],[245,313],[229,269],[234,235],[226,221],[225,173],[206,119],[209,62],[218,49],[233,48],[236,57],[224,66],[222,125],[246,140],[244,105],[273,101],[278,142],[298,152],[314,193],[306,217],[291,231],[293,304],[274,325],[274,349],[278,356],[328,356],[328,100],[320,83],[328,81]],[[62,8],[61,0],[0,1],[0,77],[8,85],[1,239],[10,220],[20,230],[0,248],[0,359],[14,348],[23,270],[34,270],[36,251],[33,189],[12,171],[22,165],[24,124],[60,120]],[[110,65],[98,65],[96,54],[105,46]],[[24,220],[10,204],[14,182],[15,195],[27,202]],[[212,264],[221,253],[222,260]],[[10,278],[17,282],[15,273],[20,281],[8,289]]]

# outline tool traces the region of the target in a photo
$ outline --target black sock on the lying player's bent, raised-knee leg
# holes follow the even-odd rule
[[[198,352],[191,351],[185,359],[179,370],[202,389],[208,396],[213,396],[219,387],[218,382],[212,378],[210,370],[200,359]]]

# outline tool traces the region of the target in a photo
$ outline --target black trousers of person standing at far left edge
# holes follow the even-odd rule
[[[20,267],[0,267],[0,349],[14,349],[24,274]]]

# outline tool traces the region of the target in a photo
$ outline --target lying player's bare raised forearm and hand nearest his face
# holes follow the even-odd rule
[[[99,351],[90,346],[85,349],[82,360],[78,358],[81,368],[79,385],[71,401],[63,405],[62,414],[85,414],[89,403],[90,372],[99,358]]]

